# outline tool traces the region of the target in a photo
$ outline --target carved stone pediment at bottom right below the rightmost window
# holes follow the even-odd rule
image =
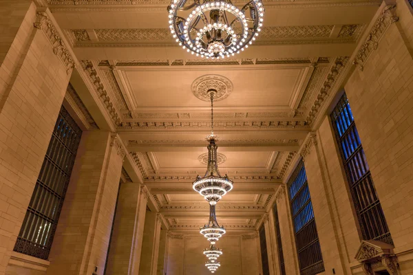
[[[362,264],[366,275],[375,271],[387,270],[389,274],[399,275],[399,263],[393,252],[394,246],[381,241],[361,241],[359,250],[354,257]]]

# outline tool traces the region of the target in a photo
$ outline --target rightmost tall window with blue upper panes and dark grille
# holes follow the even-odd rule
[[[332,111],[331,119],[363,239],[393,244],[346,94]]]

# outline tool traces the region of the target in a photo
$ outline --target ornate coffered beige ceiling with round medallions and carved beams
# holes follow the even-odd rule
[[[218,219],[245,231],[271,206],[346,78],[349,56],[380,2],[264,1],[257,43],[224,60],[195,58],[176,47],[167,29],[169,1],[47,5],[81,64],[67,102],[87,129],[119,133],[169,228],[199,228],[208,217],[207,202],[191,182],[206,169],[211,122],[205,91],[218,89],[220,170],[235,182],[218,204]]]

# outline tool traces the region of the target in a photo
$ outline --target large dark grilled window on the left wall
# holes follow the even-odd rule
[[[61,107],[14,251],[48,258],[81,134]]]

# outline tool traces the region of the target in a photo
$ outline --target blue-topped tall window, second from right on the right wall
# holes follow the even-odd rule
[[[293,215],[299,270],[302,275],[324,272],[323,256],[308,190],[306,168],[299,162],[287,183]]]

